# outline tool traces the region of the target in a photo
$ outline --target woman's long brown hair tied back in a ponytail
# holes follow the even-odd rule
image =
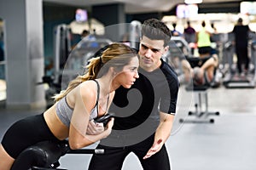
[[[84,75],[76,77],[73,81],[69,82],[66,90],[54,96],[55,102],[66,96],[73,88],[79,86],[80,83],[102,77],[108,72],[110,67],[113,67],[116,71],[121,71],[125,65],[130,63],[132,57],[138,57],[137,51],[120,42],[114,42],[101,48],[90,59]]]

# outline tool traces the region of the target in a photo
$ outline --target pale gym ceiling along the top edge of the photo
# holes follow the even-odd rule
[[[177,3],[183,0],[43,0],[49,3],[61,3],[65,5],[90,7],[109,3],[125,3],[127,14],[139,14],[148,12],[166,12],[171,10]],[[203,3],[228,3],[240,2],[241,0],[203,0]]]

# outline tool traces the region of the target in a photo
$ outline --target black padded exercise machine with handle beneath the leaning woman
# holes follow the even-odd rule
[[[15,159],[11,170],[32,169],[32,170],[67,170],[60,167],[59,159],[66,154],[104,154],[101,149],[79,149],[71,150],[68,141],[61,142],[43,141],[34,144],[20,153]]]

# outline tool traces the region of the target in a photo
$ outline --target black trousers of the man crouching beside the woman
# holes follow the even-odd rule
[[[108,147],[99,144],[97,148],[105,149],[105,152],[102,155],[94,154],[92,156],[89,170],[121,170],[125,157],[131,152],[138,157],[144,170],[170,170],[171,166],[165,144],[159,152],[148,159],[143,160],[143,156],[147,154],[153,143],[154,135],[150,136],[148,139],[145,139],[143,142],[125,147]]]

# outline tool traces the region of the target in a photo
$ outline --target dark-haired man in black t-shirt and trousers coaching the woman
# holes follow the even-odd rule
[[[179,83],[175,71],[161,59],[170,40],[171,31],[160,20],[143,23],[139,78],[131,90],[116,90],[110,108],[116,115],[113,132],[97,146],[105,154],[92,156],[90,170],[120,170],[131,152],[144,170],[171,169],[165,143],[172,131]]]

